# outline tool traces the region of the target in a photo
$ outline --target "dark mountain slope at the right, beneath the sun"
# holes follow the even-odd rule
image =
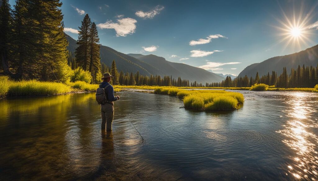
[[[302,66],[303,64],[305,64],[305,66],[317,66],[318,45],[294,54],[276,56],[260,63],[254,63],[247,66],[238,76],[243,77],[247,75],[248,77],[255,77],[257,72],[259,76],[262,76],[268,72],[272,74],[273,70],[280,75],[283,72],[283,67],[287,68],[287,73],[289,74],[291,68],[297,68],[298,65]]]

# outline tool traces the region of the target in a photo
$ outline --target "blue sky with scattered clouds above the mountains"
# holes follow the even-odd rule
[[[252,63],[318,44],[318,1],[62,2],[66,33],[74,39],[88,13],[98,26],[102,45],[126,54],[154,54],[215,73],[238,75]],[[287,19],[291,24],[293,19],[304,22],[299,27],[300,43],[290,35]]]

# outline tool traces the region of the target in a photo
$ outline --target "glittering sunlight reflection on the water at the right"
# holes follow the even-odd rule
[[[284,129],[277,131],[283,134],[286,139],[283,140],[289,146],[294,154],[290,155],[291,161],[287,164],[287,173],[297,179],[318,179],[318,157],[317,157],[317,135],[312,128],[318,128],[312,120],[311,114],[316,110],[308,106],[308,97],[305,93],[291,93],[287,99],[287,105],[292,109],[285,110],[289,120]]]

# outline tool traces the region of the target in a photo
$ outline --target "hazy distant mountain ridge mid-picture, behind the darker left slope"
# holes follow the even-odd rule
[[[144,62],[153,65],[161,70],[163,75],[171,75],[174,78],[181,77],[190,82],[197,81],[198,83],[205,84],[206,82],[220,82],[224,77],[206,71],[202,68],[192,67],[184,63],[176,63],[167,61],[165,58],[156,55],[142,55],[142,54],[127,54],[132,57],[138,58]]]

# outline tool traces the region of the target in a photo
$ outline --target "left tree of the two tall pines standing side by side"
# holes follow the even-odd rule
[[[84,70],[87,70],[89,63],[89,34],[92,28],[91,18],[88,14],[85,15],[81,27],[79,27],[79,37],[77,44],[79,45],[75,50],[75,57],[78,65]]]

